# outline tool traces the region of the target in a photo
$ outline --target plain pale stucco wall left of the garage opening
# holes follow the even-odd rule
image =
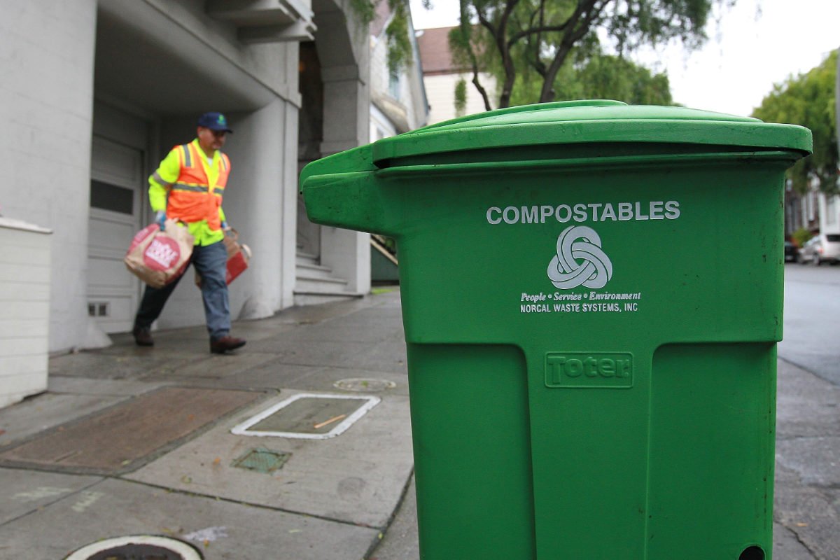
[[[4,2],[0,213],[54,231],[50,350],[80,344],[85,306],[96,0]]]

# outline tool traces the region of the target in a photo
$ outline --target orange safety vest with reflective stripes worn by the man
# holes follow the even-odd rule
[[[211,191],[210,181],[200,159],[204,154],[199,153],[195,144],[191,142],[173,149],[178,150],[181,173],[172,184],[166,198],[166,216],[186,223],[207,220],[210,229],[218,230],[222,227],[218,209],[222,206],[224,187],[228,184],[230,175],[228,156],[219,152],[221,157],[217,158],[218,181]]]

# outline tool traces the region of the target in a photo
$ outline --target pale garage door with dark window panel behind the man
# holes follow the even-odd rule
[[[140,228],[141,150],[93,136],[87,249],[87,313],[105,332],[131,330],[140,283],[123,256]]]

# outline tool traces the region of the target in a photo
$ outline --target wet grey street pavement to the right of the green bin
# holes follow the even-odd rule
[[[774,557],[840,557],[840,266],[785,264]]]

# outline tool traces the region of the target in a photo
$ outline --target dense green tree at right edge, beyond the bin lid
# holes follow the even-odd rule
[[[820,189],[837,192],[837,50],[822,64],[799,76],[791,76],[753,111],[753,117],[768,123],[800,124],[811,128],[814,153],[799,160],[788,171],[795,191],[806,193],[811,178],[820,181]]]

